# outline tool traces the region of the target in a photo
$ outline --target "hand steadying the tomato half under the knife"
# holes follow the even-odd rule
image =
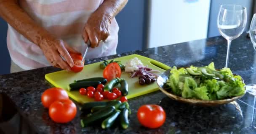
[[[39,47],[42,49],[46,59],[53,65],[53,67],[58,67],[64,70],[71,70],[74,66],[73,59],[70,57],[69,53],[77,54],[74,49],[69,47],[62,40],[43,40]],[[64,57],[65,60],[63,60]]]

